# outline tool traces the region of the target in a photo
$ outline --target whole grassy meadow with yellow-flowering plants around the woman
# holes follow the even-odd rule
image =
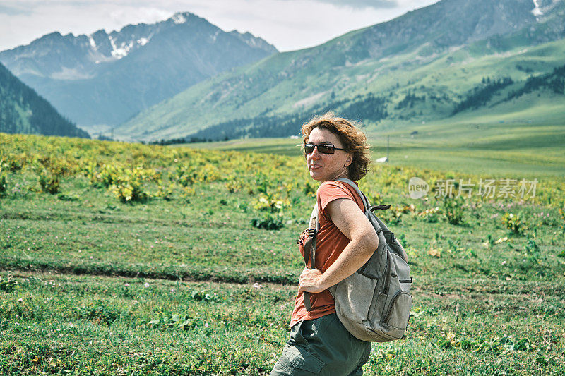
[[[420,145],[443,142],[419,135]],[[477,147],[466,163],[440,164],[450,147],[468,147],[461,135],[431,166],[420,158],[432,153],[405,138],[399,150],[391,137],[391,164],[375,164],[360,186],[392,205],[383,220],[408,252],[415,303],[405,338],[374,344],[365,374],[563,374],[557,144],[545,159],[518,140],[509,154]],[[496,141],[494,131],[484,138]],[[0,374],[268,375],[289,336],[296,240],[317,188],[298,143],[0,133]],[[494,166],[480,155],[505,158]],[[538,183],[535,197],[482,197],[475,186],[470,197],[414,200],[412,176],[432,188],[446,178]]]

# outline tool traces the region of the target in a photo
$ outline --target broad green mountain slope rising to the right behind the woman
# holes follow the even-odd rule
[[[527,101],[511,92],[563,65],[564,37],[563,0],[442,0],[217,75],[142,111],[115,134],[148,141],[287,136],[328,110],[369,126],[430,121],[478,109],[469,99],[477,92],[488,93],[480,101],[488,110]],[[491,84],[503,78],[511,81]]]

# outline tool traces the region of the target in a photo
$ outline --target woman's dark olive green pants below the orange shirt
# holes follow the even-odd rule
[[[297,322],[270,376],[363,375],[371,342],[355,338],[335,313]]]

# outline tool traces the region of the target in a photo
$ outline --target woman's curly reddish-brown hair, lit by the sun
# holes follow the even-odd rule
[[[353,162],[347,167],[349,178],[359,181],[367,175],[371,159],[369,157],[369,144],[367,136],[359,129],[355,121],[337,117],[333,112],[314,116],[313,119],[302,125],[302,154],[306,157],[304,145],[307,144],[310,132],[314,128],[327,129],[338,136],[340,142],[347,152],[353,157]]]

